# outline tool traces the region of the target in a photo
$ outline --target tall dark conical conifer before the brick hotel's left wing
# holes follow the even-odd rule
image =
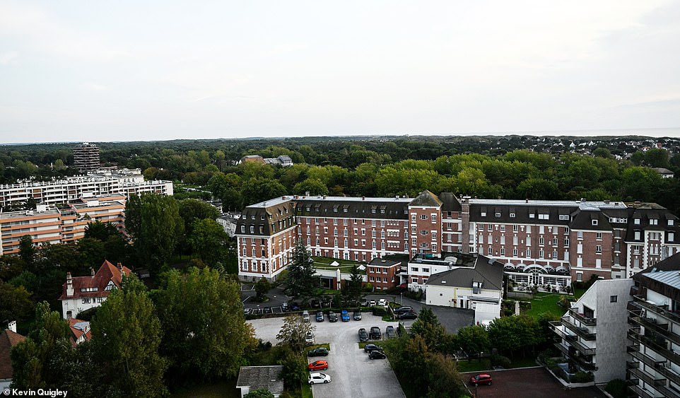
[[[293,300],[309,300],[319,295],[319,277],[315,276],[314,260],[302,240],[293,248],[293,260],[288,264],[288,293]]]

